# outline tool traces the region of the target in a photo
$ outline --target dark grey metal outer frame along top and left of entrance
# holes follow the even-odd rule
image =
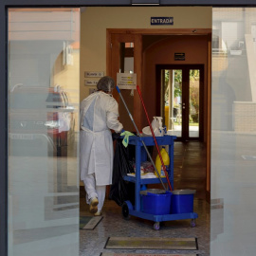
[[[255,7],[254,0],[162,0],[159,6]],[[8,8],[47,8],[82,6],[132,6],[132,0],[3,0],[0,1],[0,255],[8,256]],[[147,0],[140,0],[147,4]],[[209,95],[210,93],[208,93]],[[210,113],[210,109],[208,110]],[[210,124],[210,115],[208,116]],[[208,130],[210,136],[210,129]],[[210,137],[208,139],[210,149]],[[210,152],[209,154],[210,155]]]

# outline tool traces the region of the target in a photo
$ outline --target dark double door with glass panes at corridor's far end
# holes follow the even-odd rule
[[[203,140],[204,65],[157,64],[157,113],[177,140]]]

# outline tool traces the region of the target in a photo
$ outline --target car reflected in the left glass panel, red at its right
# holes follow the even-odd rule
[[[17,85],[9,91],[10,155],[64,156],[74,129],[74,107],[60,86]]]

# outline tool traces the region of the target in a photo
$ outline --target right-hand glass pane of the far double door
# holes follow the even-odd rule
[[[199,137],[199,83],[200,70],[190,70],[189,137]]]

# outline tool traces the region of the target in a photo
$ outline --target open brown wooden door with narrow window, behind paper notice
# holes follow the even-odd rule
[[[117,73],[136,73],[137,85],[141,86],[141,35],[124,32],[125,30],[117,33],[115,29],[107,29],[107,74],[117,82]],[[114,91],[113,94],[119,101],[118,92]],[[123,89],[121,94],[135,119],[137,128],[141,129],[141,103],[137,92]],[[119,120],[125,130],[135,131],[134,124],[121,101],[119,101]]]

